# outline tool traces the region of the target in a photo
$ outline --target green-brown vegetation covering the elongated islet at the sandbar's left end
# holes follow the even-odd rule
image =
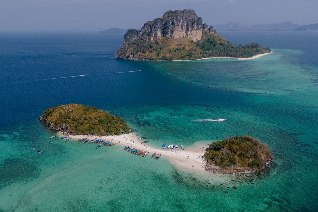
[[[106,111],[82,104],[52,107],[39,117],[51,130],[83,135],[121,135],[130,132],[125,121]]]

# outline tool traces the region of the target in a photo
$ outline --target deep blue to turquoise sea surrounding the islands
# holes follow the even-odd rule
[[[222,35],[273,53],[239,61],[126,61],[113,59],[122,34],[0,34],[0,210],[317,210],[318,34]],[[52,79],[80,74],[89,75]],[[275,164],[246,176],[198,176],[120,146],[96,150],[48,139],[52,132],[38,116],[71,102],[123,117],[155,147],[249,134],[269,144]],[[229,121],[193,121],[220,117]]]

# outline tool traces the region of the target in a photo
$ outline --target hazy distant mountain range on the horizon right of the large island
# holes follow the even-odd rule
[[[266,24],[266,25],[243,25],[236,23],[217,24],[213,25],[213,28],[217,31],[316,31],[318,29],[317,24],[303,25],[293,24],[290,21],[279,24]]]

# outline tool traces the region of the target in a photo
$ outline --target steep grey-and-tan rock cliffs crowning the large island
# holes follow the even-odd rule
[[[197,17],[194,10],[167,11],[162,18],[147,21],[141,30],[130,29],[125,34],[123,47],[117,50],[115,58],[127,58],[125,45],[131,44],[136,39],[146,41],[167,38],[167,39],[190,39],[198,41],[202,38],[203,32],[216,33],[211,26],[202,23],[202,18]],[[131,53],[127,59],[133,58]]]

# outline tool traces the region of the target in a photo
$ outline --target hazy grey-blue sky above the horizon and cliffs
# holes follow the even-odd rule
[[[194,9],[208,25],[318,22],[318,0],[0,0],[0,31],[142,27],[176,9]]]

